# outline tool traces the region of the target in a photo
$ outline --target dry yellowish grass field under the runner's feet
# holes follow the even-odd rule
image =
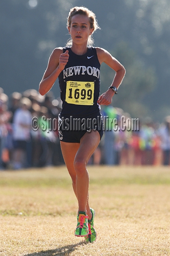
[[[96,242],[64,166],[0,172],[0,256],[170,255],[170,168],[89,166]]]

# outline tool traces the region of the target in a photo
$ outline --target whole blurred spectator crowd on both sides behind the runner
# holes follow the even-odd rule
[[[51,91],[41,96],[30,89],[22,94],[14,92],[8,98],[0,88],[0,170],[64,164],[57,124],[53,122],[60,112],[61,100],[55,99]],[[102,108],[102,115],[110,120],[116,118],[118,127],[121,127],[121,116],[131,119],[128,113],[112,106]],[[46,129],[41,128],[42,116],[46,118],[43,120]],[[37,130],[31,127],[34,117],[35,124],[37,120],[39,123]],[[139,125],[139,131],[116,131],[108,122],[109,129],[104,132],[89,164],[169,165],[170,116],[161,124],[147,117]]]

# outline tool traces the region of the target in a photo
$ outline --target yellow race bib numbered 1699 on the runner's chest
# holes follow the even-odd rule
[[[66,99],[70,104],[93,105],[94,82],[74,82],[66,83]]]

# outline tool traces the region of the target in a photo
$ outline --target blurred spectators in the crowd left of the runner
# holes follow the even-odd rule
[[[64,164],[57,130],[47,132],[31,127],[33,117],[57,118],[61,100],[49,92],[41,96],[36,90],[10,98],[0,89],[0,168],[20,169]],[[46,121],[47,122],[47,121]]]

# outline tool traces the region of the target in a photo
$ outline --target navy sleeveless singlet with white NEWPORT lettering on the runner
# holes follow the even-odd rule
[[[70,48],[66,47],[63,48],[63,53],[66,50],[68,50],[69,54],[68,62],[64,70],[59,74],[59,86],[61,91],[61,100],[63,102],[61,116],[64,116],[66,118],[70,116],[72,116],[73,118],[87,118],[89,115],[96,115],[99,113],[99,105],[97,104],[97,100],[100,95],[100,62],[98,60],[96,48],[88,47],[88,51],[84,55],[77,55],[72,52]],[[94,100],[92,104],[89,106],[70,104],[66,102],[67,81],[94,82]],[[88,84],[89,83],[86,84],[86,87],[88,87]],[[82,92],[73,91],[74,95],[72,95],[72,89],[69,89],[69,97],[74,98],[75,96],[77,102],[78,100],[80,100],[81,97],[84,98],[86,96],[86,98],[90,98],[88,96],[91,96],[91,91],[89,90],[88,92],[88,88],[85,89],[83,89],[84,91]]]

